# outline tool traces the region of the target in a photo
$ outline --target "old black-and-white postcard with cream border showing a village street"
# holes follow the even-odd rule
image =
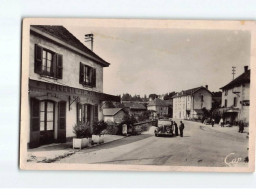
[[[21,169],[254,171],[255,21],[22,27]]]

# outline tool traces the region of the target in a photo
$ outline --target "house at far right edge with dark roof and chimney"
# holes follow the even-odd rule
[[[222,90],[221,112],[225,123],[238,121],[249,123],[250,107],[250,70],[244,67],[244,73],[220,88]]]

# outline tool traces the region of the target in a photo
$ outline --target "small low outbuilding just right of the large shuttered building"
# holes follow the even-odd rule
[[[126,112],[123,108],[104,108],[103,117],[105,122],[121,123]]]

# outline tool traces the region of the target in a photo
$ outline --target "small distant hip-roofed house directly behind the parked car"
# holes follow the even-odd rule
[[[149,101],[147,109],[154,111],[158,117],[168,115],[168,104],[159,98],[155,98],[154,100]]]

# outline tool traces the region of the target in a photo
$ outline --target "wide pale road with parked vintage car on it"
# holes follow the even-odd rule
[[[84,149],[55,163],[224,167],[231,153],[227,162],[247,157],[248,139],[237,127],[219,130],[197,122],[184,123],[184,137],[155,137],[151,127],[142,135]]]

